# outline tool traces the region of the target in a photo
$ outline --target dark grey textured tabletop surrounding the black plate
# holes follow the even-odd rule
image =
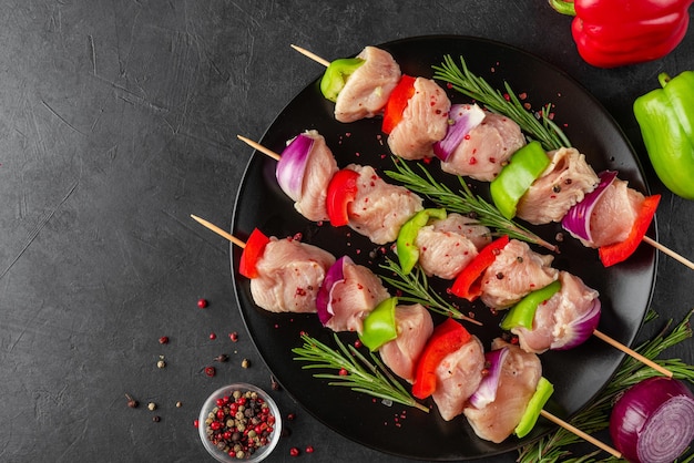
[[[188,215],[228,226],[252,153],[236,134],[261,138],[320,72],[289,43],[328,59],[423,34],[517,45],[595,95],[646,169],[631,104],[657,85],[659,72],[694,69],[692,30],[665,59],[594,69],[576,54],[571,20],[539,0],[4,0],[2,7],[3,462],[212,461],[193,428],[205,397],[232,380],[269,387],[235,306],[228,244]],[[660,241],[694,257],[694,204],[647,174],[664,194]],[[693,306],[693,279],[662,256],[653,308],[680,320]],[[210,300],[204,310],[196,307],[201,297]],[[161,336],[170,343],[161,346]],[[205,377],[202,369],[223,352],[229,362]],[[692,342],[667,354],[691,362]],[[160,356],[167,362],[161,370]],[[244,358],[251,368],[241,368]],[[125,393],[141,407],[129,409]],[[273,395],[297,419],[271,461],[293,460],[288,449],[306,445],[316,449],[302,455],[306,461],[400,461],[337,435],[286,392]],[[155,412],[146,410],[150,401]]]

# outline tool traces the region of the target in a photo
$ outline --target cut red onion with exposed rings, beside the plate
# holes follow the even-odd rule
[[[614,404],[610,435],[631,462],[673,462],[694,439],[694,395],[675,379],[643,380]]]

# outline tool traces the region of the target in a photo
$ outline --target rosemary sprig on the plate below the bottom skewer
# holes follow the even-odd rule
[[[294,348],[292,351],[298,357],[294,360],[310,362],[303,369],[329,369],[340,371],[345,369],[348,374],[316,373],[314,378],[331,380],[329,385],[341,385],[355,392],[361,392],[387,401],[414,407],[429,413],[429,408],[417,402],[407,392],[405,387],[388,371],[386,366],[369,352],[372,363],[354,346],[345,346],[336,333],[333,335],[338,349],[333,349],[317,339],[304,333],[304,346]]]

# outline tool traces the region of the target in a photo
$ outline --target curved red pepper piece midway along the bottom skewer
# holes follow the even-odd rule
[[[468,330],[452,318],[438,325],[417,360],[412,395],[417,399],[431,395],[436,391],[436,369],[441,360],[465,346],[470,338]]]

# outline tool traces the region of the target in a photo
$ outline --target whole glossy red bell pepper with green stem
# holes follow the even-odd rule
[[[596,68],[653,61],[673,51],[690,24],[694,0],[549,0],[574,16],[579,54]]]

